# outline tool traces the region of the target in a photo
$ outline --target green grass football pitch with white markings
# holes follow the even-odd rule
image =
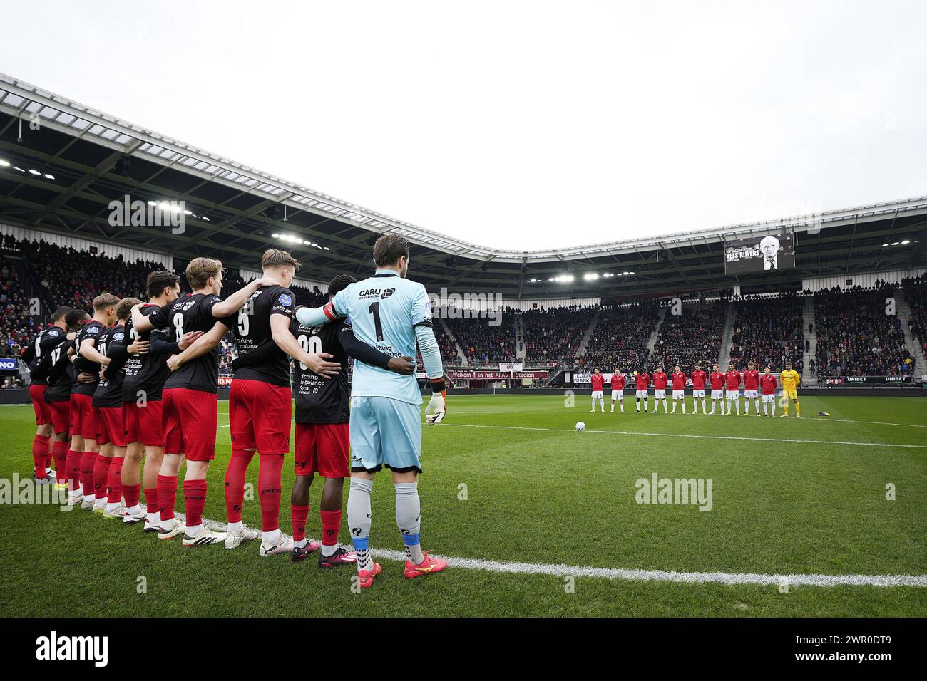
[[[256,542],[184,549],[179,539],[144,535],[140,525],[7,497],[0,612],[927,614],[927,401],[803,397],[796,420],[794,410],[788,419],[664,415],[662,408],[642,415],[633,397],[627,413],[609,413],[607,400],[603,414],[589,412],[588,396],[572,408],[563,396],[449,396],[445,422],[424,428],[419,483],[423,548],[451,561],[445,573],[403,578],[388,473],[376,478],[371,530],[383,574],[360,593],[351,588],[353,568],[319,570],[317,554],[294,564],[288,556],[260,558]],[[0,420],[0,478],[28,479],[32,408],[0,407]],[[586,432],[574,429],[578,421]],[[220,402],[204,512],[218,523],[225,522],[227,423]],[[257,477],[255,460],[248,482],[256,486]],[[694,481],[692,496],[680,496],[679,486],[661,492],[663,479]],[[286,533],[292,483],[287,457]],[[316,479],[307,526],[316,538],[320,493]],[[244,521],[260,528],[257,494],[246,501]],[[347,513],[340,539],[349,541]]]

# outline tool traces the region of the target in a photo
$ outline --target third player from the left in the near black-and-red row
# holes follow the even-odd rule
[[[94,316],[86,322],[74,340],[76,354],[73,357],[74,369],[79,374],[93,377],[92,381],[78,380],[70,391],[71,433],[83,437],[83,457],[81,458],[81,487],[83,489],[84,511],[95,508],[96,464],[100,458],[100,446],[97,443],[96,418],[94,413],[94,393],[99,384],[100,368],[109,363],[109,358],[97,344],[101,342],[107,329],[116,322],[116,305],[119,298],[111,293],[103,293],[94,298]],[[102,464],[101,464],[102,465]],[[102,473],[102,470],[100,471]],[[104,478],[105,485],[105,478]],[[105,503],[105,502],[104,502]],[[102,512],[102,509],[101,509]]]

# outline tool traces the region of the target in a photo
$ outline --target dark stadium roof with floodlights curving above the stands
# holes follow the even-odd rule
[[[184,201],[184,233],[110,225],[109,203],[124,195]],[[413,244],[411,276],[429,291],[512,299],[652,296],[734,284],[771,290],[804,277],[927,262],[927,196],[819,218],[818,233],[795,219],[557,251],[494,250],[320,195],[0,74],[0,222],[177,259],[209,256],[253,270],[265,248],[286,247],[303,262],[300,277],[327,281],[369,272],[376,237],[402,233]],[[725,274],[725,239],[781,232],[783,224],[797,232],[794,270]]]

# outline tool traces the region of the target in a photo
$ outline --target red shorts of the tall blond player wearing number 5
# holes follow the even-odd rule
[[[236,378],[229,393],[232,449],[257,449],[259,454],[289,451],[293,393],[284,385]]]

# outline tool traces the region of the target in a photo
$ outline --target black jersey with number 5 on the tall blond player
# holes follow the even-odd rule
[[[272,385],[290,385],[289,356],[273,343],[271,317],[283,315],[292,325],[296,296],[283,286],[264,286],[248,298],[238,310],[235,320],[235,344],[238,357],[247,358],[258,347],[265,346],[259,363],[248,363],[235,372],[235,378],[262,381]]]

